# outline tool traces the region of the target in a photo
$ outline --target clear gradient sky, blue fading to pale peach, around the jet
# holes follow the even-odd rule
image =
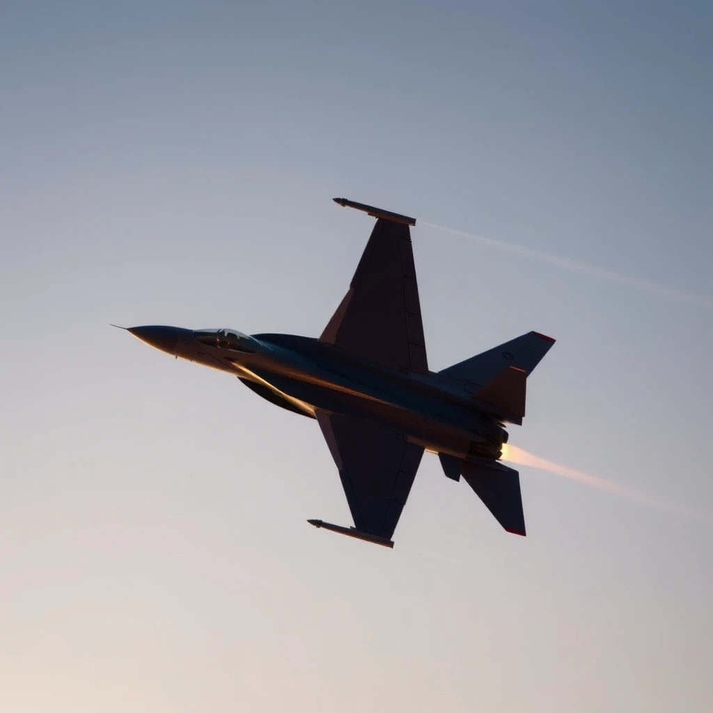
[[[712,47],[704,2],[5,0],[0,709],[713,709]],[[314,421],[108,326],[317,336],[335,195],[419,218],[431,368],[552,334],[511,442],[662,504],[523,467],[517,538],[426,456],[396,549],[315,530]]]

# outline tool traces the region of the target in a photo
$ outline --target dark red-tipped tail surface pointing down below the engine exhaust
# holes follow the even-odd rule
[[[525,535],[520,475],[496,461],[463,461],[463,478],[481,498],[498,523],[514,535]]]

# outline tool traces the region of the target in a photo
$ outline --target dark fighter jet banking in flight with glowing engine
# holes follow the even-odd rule
[[[414,218],[346,198],[376,224],[347,294],[319,338],[237,329],[132,327],[150,346],[237,376],[272,404],[315,419],[354,526],[312,525],[393,548],[424,451],[461,476],[510,533],[525,535],[518,471],[499,462],[522,424],[525,380],[555,342],[528,332],[434,372],[426,359]]]

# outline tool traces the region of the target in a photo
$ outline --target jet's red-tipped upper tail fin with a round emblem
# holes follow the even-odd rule
[[[522,337],[511,339],[510,342],[488,349],[487,352],[448,366],[447,369],[438,373],[451,379],[471,382],[471,388],[468,391],[474,393],[478,386],[487,384],[506,366],[522,369],[529,376],[554,343],[555,340],[552,337],[545,337],[540,332],[528,332]]]

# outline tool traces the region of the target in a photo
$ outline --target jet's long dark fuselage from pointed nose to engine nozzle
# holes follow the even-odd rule
[[[317,409],[401,431],[434,453],[499,458],[508,434],[463,384],[431,372],[400,373],[310,337],[235,330],[135,327],[169,354],[227,371],[272,403],[314,418]],[[489,412],[488,412],[489,411]]]

